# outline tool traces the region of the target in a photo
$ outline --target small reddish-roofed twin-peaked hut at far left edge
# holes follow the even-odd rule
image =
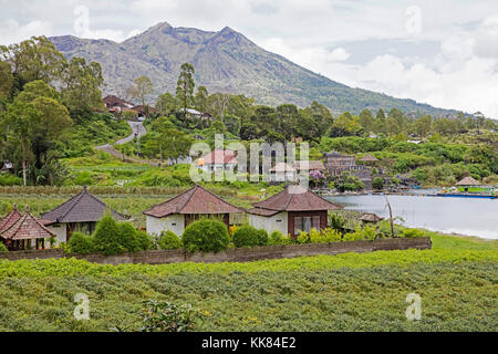
[[[1,222],[0,238],[10,251],[44,249],[45,240],[55,236],[31,215],[29,208],[23,216],[14,208],[6,219],[7,222]]]

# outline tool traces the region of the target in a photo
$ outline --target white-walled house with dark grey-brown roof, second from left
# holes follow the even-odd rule
[[[51,232],[55,233],[56,242],[66,242],[75,231],[92,233],[96,222],[100,221],[110,208],[91,195],[86,187],[79,195],[66,200],[55,209],[41,216],[40,222]],[[110,210],[116,220],[126,220],[117,211]]]

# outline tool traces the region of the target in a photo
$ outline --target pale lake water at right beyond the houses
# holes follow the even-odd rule
[[[432,190],[417,190],[404,196],[328,196],[347,210],[375,212],[388,217],[387,197],[393,217],[402,217],[406,227],[430,231],[498,239],[498,199],[423,197]]]

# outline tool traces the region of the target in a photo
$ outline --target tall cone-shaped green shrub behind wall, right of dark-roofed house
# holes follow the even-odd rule
[[[118,254],[126,250],[121,242],[117,222],[110,215],[104,216],[98,221],[94,233],[94,242],[95,250],[104,252],[105,256]]]

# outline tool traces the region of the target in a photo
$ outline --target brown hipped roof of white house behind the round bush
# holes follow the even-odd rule
[[[226,214],[241,212],[231,204],[196,185],[183,194],[145,210],[143,214],[164,218],[172,214]]]

